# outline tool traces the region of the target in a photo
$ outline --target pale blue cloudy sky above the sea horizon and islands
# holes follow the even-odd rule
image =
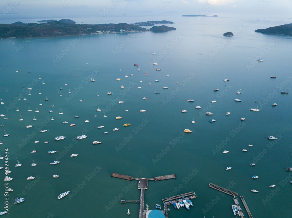
[[[24,17],[234,15],[291,18],[291,0],[1,0],[0,13]],[[207,13],[205,13],[207,12]],[[1,15],[0,14],[0,15]]]

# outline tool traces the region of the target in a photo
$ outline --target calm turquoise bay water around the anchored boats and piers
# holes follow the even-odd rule
[[[132,216],[138,216],[138,204],[116,203],[119,198],[138,200],[137,183],[111,178],[113,171],[138,178],[176,173],[177,178],[173,180],[150,181],[145,191],[145,204],[150,209],[176,192],[197,194],[190,211],[170,207],[169,217],[204,217],[204,213],[206,217],[232,216],[232,197],[209,188],[210,182],[229,186],[244,196],[254,217],[287,217],[289,210],[279,211],[279,208],[289,207],[286,199],[291,198],[291,184],[281,182],[285,178],[292,180],[288,177],[291,174],[283,169],[291,167],[288,116],[291,93],[281,95],[280,92],[291,90],[291,37],[254,32],[284,24],[280,19],[211,19],[168,17],[165,20],[175,22],[172,26],[177,30],[166,33],[36,38],[27,45],[24,39],[2,39],[0,97],[5,104],[0,107],[1,114],[8,119],[1,117],[0,122],[4,124],[1,134],[5,130],[9,137],[1,137],[0,154],[4,156],[4,148],[9,148],[12,171],[9,176],[13,178],[9,187],[14,189],[9,192],[9,202],[13,203],[22,192],[26,198],[24,203],[13,205],[7,216],[21,213],[22,217],[81,217],[84,214],[127,217],[127,209]],[[232,38],[222,36],[227,31],[237,34]],[[17,52],[15,47],[22,49]],[[67,54],[62,57],[66,48]],[[57,55],[62,58],[57,59]],[[255,61],[254,66],[250,65],[258,59],[256,56],[264,62]],[[141,71],[137,71],[134,63],[139,63]],[[28,73],[29,70],[32,73]],[[146,70],[148,75],[144,75]],[[126,73],[128,77],[124,77]],[[270,79],[273,75],[277,78]],[[89,81],[91,77],[95,82]],[[154,82],[155,79],[159,82]],[[121,89],[122,85],[125,89]],[[164,86],[168,89],[163,89]],[[27,95],[29,87],[32,95]],[[6,88],[8,93],[5,93]],[[219,91],[214,92],[214,88]],[[239,89],[240,95],[236,94]],[[107,95],[108,91],[113,95]],[[160,94],[155,95],[155,92]],[[15,100],[18,96],[21,100]],[[49,101],[44,101],[46,96]],[[241,102],[235,102],[235,98]],[[125,102],[117,104],[119,100]],[[212,100],[217,102],[212,104]],[[43,105],[39,105],[40,101]],[[278,105],[272,107],[272,103]],[[51,107],[52,104],[55,107]],[[195,106],[202,108],[195,109]],[[27,111],[29,107],[32,111]],[[101,112],[96,111],[98,107]],[[250,111],[253,107],[261,110]],[[39,113],[34,112],[36,108]],[[60,109],[64,114],[58,114]],[[146,112],[141,113],[140,109]],[[180,113],[184,109],[188,112]],[[54,112],[48,113],[48,110]],[[214,114],[206,116],[206,111]],[[225,116],[228,111],[231,114]],[[23,121],[19,121],[19,114]],[[80,118],[73,118],[75,115]],[[33,121],[33,116],[37,120]],[[116,120],[116,116],[123,118]],[[246,120],[240,121],[242,117]],[[194,124],[191,123],[193,118]],[[209,123],[210,119],[217,121]],[[90,122],[85,123],[85,120]],[[70,123],[76,126],[69,127]],[[124,123],[131,125],[123,127]],[[27,129],[27,125],[33,127]],[[98,125],[105,127],[95,128]],[[119,130],[113,132],[114,128]],[[40,133],[43,129],[49,131]],[[193,132],[183,134],[184,129]],[[103,134],[104,131],[109,133]],[[75,137],[81,134],[88,137],[77,142]],[[30,135],[34,135],[32,139]],[[60,135],[66,139],[55,141]],[[280,136],[273,146],[268,144],[270,135]],[[32,143],[36,140],[40,143]],[[50,142],[45,144],[44,141]],[[92,141],[102,141],[102,144],[92,145]],[[254,146],[248,147],[248,144]],[[217,145],[222,147],[218,153],[215,152]],[[31,153],[34,148],[37,152]],[[242,152],[243,148],[248,152]],[[49,155],[49,150],[58,152]],[[223,150],[229,153],[223,154]],[[79,155],[70,157],[72,153]],[[16,158],[22,164],[19,168],[14,167]],[[32,159],[37,166],[31,166]],[[55,159],[59,159],[60,164],[51,166],[49,163]],[[256,166],[249,166],[256,161]],[[226,171],[227,166],[232,169]],[[60,177],[52,178],[53,174]],[[26,180],[38,175],[41,178],[35,179],[35,183]],[[253,175],[260,178],[253,180]],[[1,199],[4,199],[4,182],[1,184]],[[276,184],[278,189],[267,187],[271,184]],[[260,192],[252,193],[251,189]],[[72,195],[57,200],[60,193],[68,190]],[[272,198],[264,205],[263,199],[269,194]],[[216,198],[220,200],[216,202]],[[244,214],[247,216],[245,211]]]

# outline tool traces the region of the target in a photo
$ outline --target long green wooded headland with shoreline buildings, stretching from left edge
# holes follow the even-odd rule
[[[47,23],[22,23],[0,24],[0,38],[35,38],[35,37],[54,37],[72,36],[98,33],[118,33],[134,31],[169,31],[175,30],[174,27],[154,26],[146,29],[126,23],[119,24],[75,24],[60,21],[50,21]],[[73,21],[74,22],[74,21]]]

